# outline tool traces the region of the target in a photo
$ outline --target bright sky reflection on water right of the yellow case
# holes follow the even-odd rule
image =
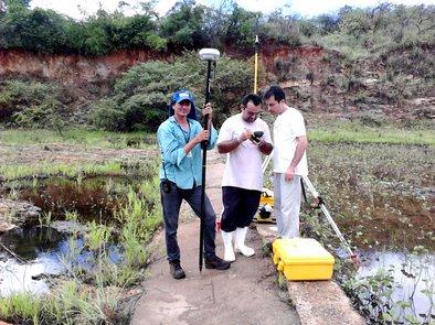
[[[407,315],[415,315],[421,321],[421,315],[435,313],[433,303],[435,281],[435,256],[410,254],[393,251],[365,251],[360,253],[363,261],[357,273],[358,280],[375,275],[383,269],[394,278],[391,299],[394,302],[409,302],[404,308]],[[425,293],[426,292],[426,293]],[[432,308],[432,311],[431,311]]]

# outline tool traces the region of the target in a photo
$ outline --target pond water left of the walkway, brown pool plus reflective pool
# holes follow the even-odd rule
[[[110,224],[127,186],[136,182],[125,177],[52,177],[21,184],[20,198],[52,213],[52,220],[64,219],[65,212],[76,212],[83,224],[89,220]],[[0,248],[0,296],[15,291],[35,294],[49,291],[46,279],[66,272],[64,257],[71,250],[70,239],[68,234],[39,225],[0,236],[0,242],[14,254]],[[74,262],[91,269],[94,254],[85,248],[83,236],[74,238],[73,245],[81,251]],[[113,262],[121,259],[118,246],[112,243],[106,248]]]

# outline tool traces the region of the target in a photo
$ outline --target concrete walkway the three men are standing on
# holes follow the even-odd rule
[[[206,192],[216,214],[220,214],[223,156],[211,153],[206,172]],[[365,323],[352,310],[340,288],[331,281],[289,282],[287,290],[280,290],[275,266],[270,257],[262,251],[265,240],[274,236],[267,226],[258,226],[258,231],[248,231],[246,241],[255,249],[255,257],[238,254],[227,271],[203,269],[200,273],[199,220],[188,206],[182,207],[182,219],[178,237],[187,278],[173,280],[170,277],[163,235],[160,232],[152,242],[155,262],[149,268],[149,278],[142,283],[145,295],[137,304],[131,324]],[[222,257],[219,234],[216,243],[217,254]],[[341,308],[335,308],[337,303]]]

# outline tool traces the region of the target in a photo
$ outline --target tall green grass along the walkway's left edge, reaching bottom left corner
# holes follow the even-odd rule
[[[76,238],[71,238],[68,251],[61,260],[72,279],[56,280],[52,291],[41,299],[31,294],[0,299],[0,318],[14,324],[127,324],[130,310],[125,306],[123,296],[144,280],[144,267],[149,258],[147,243],[162,223],[156,191],[157,169],[155,164],[152,178],[136,187],[125,185],[120,191],[126,196],[116,215],[121,262],[110,260],[105,245],[112,228],[88,223],[85,241],[95,256],[92,270],[84,270],[77,263],[83,248],[76,245]],[[73,215],[70,219],[76,218],[74,213],[70,215]]]

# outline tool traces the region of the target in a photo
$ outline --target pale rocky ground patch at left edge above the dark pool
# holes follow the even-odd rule
[[[0,234],[38,223],[41,209],[29,202],[0,198]]]

